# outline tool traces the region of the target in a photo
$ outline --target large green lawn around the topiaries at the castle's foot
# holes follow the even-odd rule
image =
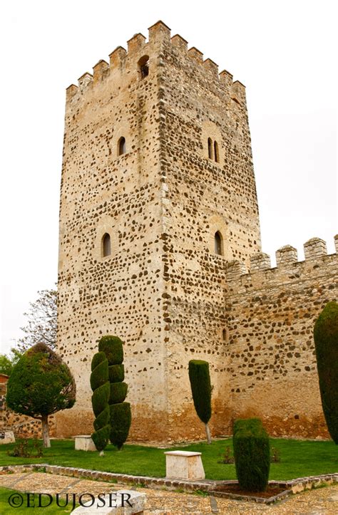
[[[295,479],[338,472],[338,446],[334,442],[310,442],[308,440],[270,439],[271,445],[280,451],[280,463],[272,463],[270,479]],[[232,449],[232,439],[206,443],[178,445],[175,449],[202,452],[207,479],[236,479],[235,465],[220,464],[220,454],[225,448]],[[98,452],[74,450],[73,440],[52,440],[51,448],[43,451],[41,458],[15,458],[6,454],[14,444],[1,445],[0,466],[23,463],[48,463],[104,472],[119,472],[138,476],[165,477],[165,450],[142,445],[124,445],[122,451],[108,445],[104,457]]]

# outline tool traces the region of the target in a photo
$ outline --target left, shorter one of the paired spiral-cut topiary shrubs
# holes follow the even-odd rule
[[[93,412],[96,416],[94,420],[95,431],[91,435],[96,449],[103,452],[109,442],[109,435],[111,432],[110,412],[109,412],[109,395],[110,383],[108,375],[108,360],[106,354],[98,352],[93,355],[91,361],[91,389],[93,395],[91,403],[93,405]]]

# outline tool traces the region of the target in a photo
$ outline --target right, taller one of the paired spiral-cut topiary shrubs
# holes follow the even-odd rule
[[[131,412],[129,402],[126,399],[128,385],[123,383],[123,342],[117,336],[103,336],[98,344],[98,350],[105,353],[108,359],[109,381],[110,381],[110,424],[111,424],[111,443],[121,449],[128,438],[131,424]]]

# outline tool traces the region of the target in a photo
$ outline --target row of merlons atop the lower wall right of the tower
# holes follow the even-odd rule
[[[265,252],[257,252],[250,256],[250,269],[241,261],[233,260],[227,264],[227,280],[235,281],[242,276],[253,276],[259,272],[272,272],[276,274],[278,271],[292,271],[292,274],[301,273],[304,266],[311,266],[312,269],[318,269],[323,266],[323,258],[332,260],[337,258],[338,264],[338,234],[334,236],[334,244],[336,254],[327,254],[327,244],[320,238],[311,238],[304,243],[304,261],[298,261],[297,249],[291,245],[282,246],[276,251],[277,266],[271,267],[271,259],[269,254]],[[308,267],[307,267],[308,271]],[[267,279],[270,279],[267,276]]]

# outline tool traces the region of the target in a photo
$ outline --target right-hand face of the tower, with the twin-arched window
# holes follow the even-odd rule
[[[230,73],[219,74],[197,48],[188,50],[180,36],[170,38],[168,29],[161,58],[168,427],[170,438],[197,439],[204,427],[191,402],[188,362],[210,362],[212,430],[223,434],[230,416],[223,373],[225,264],[248,263],[260,251],[260,224],[245,87]],[[209,157],[209,138],[217,142],[217,160]],[[224,256],[215,254],[217,231]]]

